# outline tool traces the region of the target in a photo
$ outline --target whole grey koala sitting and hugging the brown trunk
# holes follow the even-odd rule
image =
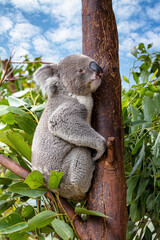
[[[39,170],[46,183],[51,170],[64,172],[59,195],[68,200],[86,198],[94,162],[106,149],[106,140],[90,126],[91,94],[102,75],[102,68],[81,54],[44,65],[34,74],[48,100],[33,138],[32,169]]]

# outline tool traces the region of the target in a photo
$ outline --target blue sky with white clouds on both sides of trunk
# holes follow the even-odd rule
[[[119,32],[121,76],[129,76],[130,50],[143,42],[160,50],[160,1],[113,0]],[[42,56],[58,62],[81,53],[81,0],[0,0],[0,57]]]

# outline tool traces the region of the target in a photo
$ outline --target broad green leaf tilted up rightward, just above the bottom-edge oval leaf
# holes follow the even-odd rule
[[[57,213],[50,210],[46,210],[37,214],[28,222],[29,231],[49,225],[56,216]]]

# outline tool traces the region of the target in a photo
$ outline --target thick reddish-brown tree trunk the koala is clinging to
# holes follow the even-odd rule
[[[88,239],[125,240],[127,225],[126,184],[123,158],[121,79],[118,34],[111,0],[82,0],[83,54],[104,70],[101,87],[94,95],[93,127],[110,138],[108,157],[95,170],[89,192],[89,209],[110,218],[89,217]]]

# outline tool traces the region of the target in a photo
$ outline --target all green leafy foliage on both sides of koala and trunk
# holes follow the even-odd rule
[[[131,76],[135,82],[122,90],[125,171],[127,178],[127,239],[160,237],[160,53],[149,53],[141,43],[131,50],[136,58]],[[36,58],[35,61],[40,61]],[[25,61],[28,61],[25,56]],[[32,75],[39,62],[17,65],[12,82],[0,68],[0,153],[31,171],[32,138],[45,106],[45,98],[34,87]],[[123,79],[130,84],[127,77]],[[45,197],[49,188],[58,189],[63,173],[51,172],[49,186],[33,171],[25,181],[0,167],[0,239],[77,239],[72,222]],[[57,191],[58,196],[58,191]],[[37,202],[37,203],[36,203]],[[41,202],[41,204],[40,204]],[[106,217],[75,207],[76,214]],[[41,207],[40,207],[41,205]]]

